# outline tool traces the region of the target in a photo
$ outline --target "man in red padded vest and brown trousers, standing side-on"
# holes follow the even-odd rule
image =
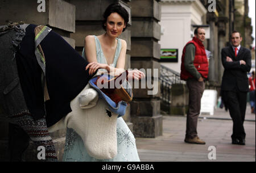
[[[205,79],[208,78],[208,60],[203,41],[204,28],[196,28],[195,36],[183,48],[181,58],[180,79],[187,81],[189,89],[189,106],[187,113],[187,129],[185,142],[191,144],[205,144],[197,136],[197,120],[200,114],[201,97],[205,88]]]

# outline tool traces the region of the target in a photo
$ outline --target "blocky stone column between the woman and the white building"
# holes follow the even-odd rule
[[[131,1],[131,68],[151,69],[151,79],[158,85],[155,95],[148,95],[148,88],[134,89],[131,102],[131,122],[134,125],[135,137],[157,137],[163,133],[162,116],[160,115],[160,4],[154,0]],[[158,74],[154,74],[158,69]],[[158,86],[158,88],[157,88]]]

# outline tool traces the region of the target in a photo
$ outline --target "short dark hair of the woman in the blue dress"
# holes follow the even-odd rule
[[[108,19],[108,16],[113,12],[117,12],[119,15],[121,15],[121,17],[125,20],[125,24],[127,27],[127,23],[129,22],[129,13],[119,3],[112,3],[106,8],[103,14],[102,28],[105,31],[106,31],[106,26],[105,26],[106,20]],[[126,27],[123,28],[123,31],[125,31]]]

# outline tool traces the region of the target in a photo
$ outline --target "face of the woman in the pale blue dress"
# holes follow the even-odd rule
[[[121,35],[123,28],[125,28],[125,20],[117,12],[113,12],[108,16],[105,23],[106,33],[112,37],[118,37]]]

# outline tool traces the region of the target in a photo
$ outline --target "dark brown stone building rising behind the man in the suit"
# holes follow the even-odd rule
[[[208,8],[206,0],[200,0]],[[218,0],[216,12],[207,13],[207,23],[213,28],[212,39],[208,40],[208,49],[213,52],[210,61],[208,87],[219,90],[224,68],[221,63],[221,49],[230,44],[230,33],[236,30],[241,33],[243,41],[241,45],[250,48],[251,19],[248,16],[248,0]]]

